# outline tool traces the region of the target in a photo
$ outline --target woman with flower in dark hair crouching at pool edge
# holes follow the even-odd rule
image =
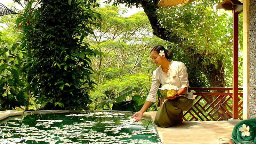
[[[134,121],[141,120],[143,113],[152,102],[156,102],[156,93],[160,84],[172,84],[179,88],[177,94],[172,98],[165,97],[164,104],[158,109],[155,117],[155,124],[162,128],[182,124],[183,111],[192,107],[195,97],[192,92],[188,92],[188,73],[184,63],[170,61],[171,52],[165,50],[162,45],[154,47],[150,56],[153,62],[159,66],[153,72],[151,89],[147,100],[140,111],[132,117]]]

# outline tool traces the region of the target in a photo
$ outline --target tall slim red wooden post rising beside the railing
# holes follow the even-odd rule
[[[238,12],[233,8],[233,119],[238,118]]]

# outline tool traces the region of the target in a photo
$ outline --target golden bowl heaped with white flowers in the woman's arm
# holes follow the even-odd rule
[[[164,84],[161,88],[159,88],[160,93],[164,97],[173,97],[177,94],[179,88],[172,84]]]

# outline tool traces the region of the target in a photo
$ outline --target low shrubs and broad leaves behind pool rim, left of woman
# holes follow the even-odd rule
[[[104,83],[98,84],[96,91],[91,93],[90,97],[94,99],[93,104],[97,104],[97,106],[92,104],[91,107],[94,109],[139,111],[148,96],[148,77],[151,78],[152,76],[137,73],[104,80]],[[125,87],[132,84],[134,86]],[[149,109],[152,109],[153,106],[154,104]]]

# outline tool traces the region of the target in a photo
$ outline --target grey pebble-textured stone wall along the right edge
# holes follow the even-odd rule
[[[250,0],[249,22],[249,118],[254,118],[256,117],[256,0]]]

